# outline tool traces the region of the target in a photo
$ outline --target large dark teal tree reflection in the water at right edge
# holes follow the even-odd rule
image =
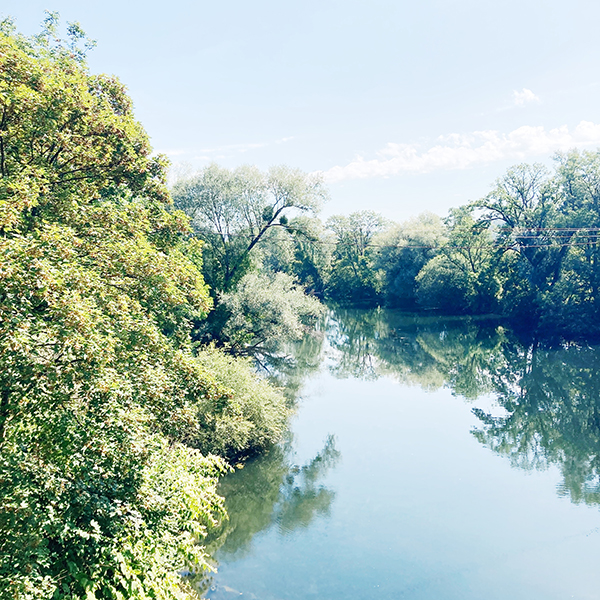
[[[503,345],[494,377],[503,416],[475,409],[477,439],[523,469],[559,467],[560,495],[600,504],[600,354],[595,348]]]

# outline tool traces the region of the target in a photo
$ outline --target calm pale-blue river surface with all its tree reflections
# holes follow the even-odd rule
[[[206,598],[600,598],[600,353],[330,314],[287,442],[225,479]]]

